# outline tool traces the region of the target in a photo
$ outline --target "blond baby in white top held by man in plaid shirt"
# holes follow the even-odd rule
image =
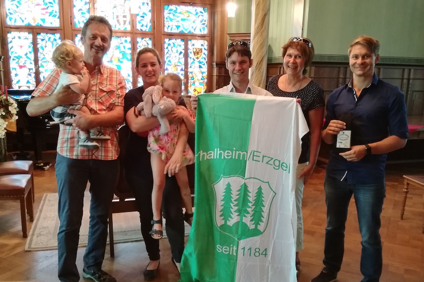
[[[90,86],[90,75],[84,66],[83,52],[70,40],[64,40],[53,51],[52,61],[56,67],[61,69],[61,77],[54,94],[56,94],[61,86],[69,86],[73,91],[81,95],[78,103],[73,105],[61,105],[50,111],[54,121],[67,124],[67,120],[72,119],[75,115],[68,113],[68,109],[80,110],[86,114],[91,114],[90,110],[83,106],[85,95]],[[110,136],[103,134],[98,128],[91,128],[89,131],[80,130],[80,140],[78,145],[86,149],[98,149],[99,144],[92,139],[109,140]]]

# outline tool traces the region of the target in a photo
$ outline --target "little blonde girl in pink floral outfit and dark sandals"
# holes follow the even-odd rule
[[[147,150],[151,153],[151,170],[153,172],[153,191],[151,204],[153,210],[153,228],[151,237],[160,239],[163,236],[162,215],[160,206],[165,187],[166,172],[169,176],[175,174],[181,189],[182,202],[185,206],[184,220],[191,225],[193,208],[191,192],[188,185],[186,165],[194,163],[194,154],[187,144],[188,131],[194,133],[194,115],[185,107],[178,106],[182,93],[182,79],[176,74],[167,74],[162,79],[162,96],[173,99],[177,107],[170,113],[174,122],[170,122],[171,130],[159,134],[160,126],[149,131]],[[180,122],[175,122],[175,121]],[[188,131],[187,131],[188,129]],[[174,167],[175,169],[170,169]]]

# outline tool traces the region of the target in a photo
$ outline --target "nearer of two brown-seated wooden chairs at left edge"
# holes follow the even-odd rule
[[[27,215],[34,220],[32,207],[32,181],[29,174],[0,176],[0,200],[19,200],[21,202],[22,236],[27,238]]]

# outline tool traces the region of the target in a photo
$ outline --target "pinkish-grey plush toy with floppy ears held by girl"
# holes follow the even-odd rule
[[[144,91],[143,102],[137,105],[137,109],[150,118],[152,115],[157,117],[160,123],[160,134],[169,132],[169,121],[166,115],[171,112],[177,104],[174,100],[162,96],[162,87],[160,85],[150,86]]]

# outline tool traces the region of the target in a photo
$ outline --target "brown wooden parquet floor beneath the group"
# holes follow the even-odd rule
[[[54,161],[55,152],[43,153],[45,160]],[[319,164],[304,189],[304,247],[301,252],[299,282],[309,282],[322,268],[326,206],[323,179],[325,165]],[[381,237],[383,240],[383,274],[381,282],[424,282],[424,190],[410,188],[404,219],[400,220],[404,174],[424,175],[424,163],[392,164],[387,167],[387,198],[382,213]],[[55,170],[36,170],[35,205],[38,210],[44,193],[56,192]],[[28,225],[29,230],[31,223]],[[349,207],[346,226],[345,254],[339,282],[359,282],[362,279],[359,263],[361,236],[358,230],[356,209]],[[19,203],[0,202],[0,282],[57,280],[57,251],[25,252],[26,239],[22,238]],[[157,282],[175,282],[179,275],[171,263],[169,244],[160,241],[161,263]],[[78,250],[77,265],[82,270],[84,248]],[[142,242],[115,244],[115,258],[109,256],[109,246],[103,269],[119,282],[140,282],[148,262]],[[81,279],[83,281],[83,279]]]

